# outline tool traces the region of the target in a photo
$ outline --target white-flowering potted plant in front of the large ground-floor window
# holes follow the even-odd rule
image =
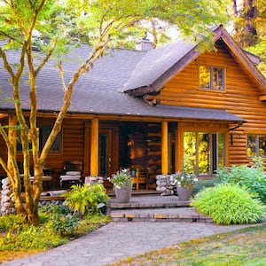
[[[195,174],[182,171],[170,176],[172,184],[176,184],[179,200],[189,200],[192,197],[193,184],[198,181]]]

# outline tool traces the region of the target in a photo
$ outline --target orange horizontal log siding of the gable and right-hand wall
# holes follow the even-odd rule
[[[225,67],[225,91],[199,89],[198,67],[201,64]],[[228,51],[217,47],[217,51],[200,55],[176,74],[160,90],[160,95],[149,98],[159,99],[162,105],[223,108],[245,119],[247,122],[233,131],[233,145],[229,145],[230,164],[240,164],[250,161],[246,156],[245,132],[266,134],[266,104],[259,99],[260,90],[262,88],[246,74],[237,60]]]

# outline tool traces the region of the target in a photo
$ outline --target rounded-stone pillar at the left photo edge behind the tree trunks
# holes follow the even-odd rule
[[[16,213],[15,200],[12,192],[12,184],[8,177],[2,180],[1,192],[1,215],[10,215]]]

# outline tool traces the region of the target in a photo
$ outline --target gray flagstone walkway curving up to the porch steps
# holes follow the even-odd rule
[[[213,223],[108,223],[80,239],[1,265],[12,266],[98,266],[108,265],[128,256],[233,231],[245,225],[218,226]]]

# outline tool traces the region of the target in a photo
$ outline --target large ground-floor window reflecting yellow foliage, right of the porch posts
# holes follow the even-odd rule
[[[224,166],[223,133],[184,132],[184,167],[196,175],[215,174]]]

